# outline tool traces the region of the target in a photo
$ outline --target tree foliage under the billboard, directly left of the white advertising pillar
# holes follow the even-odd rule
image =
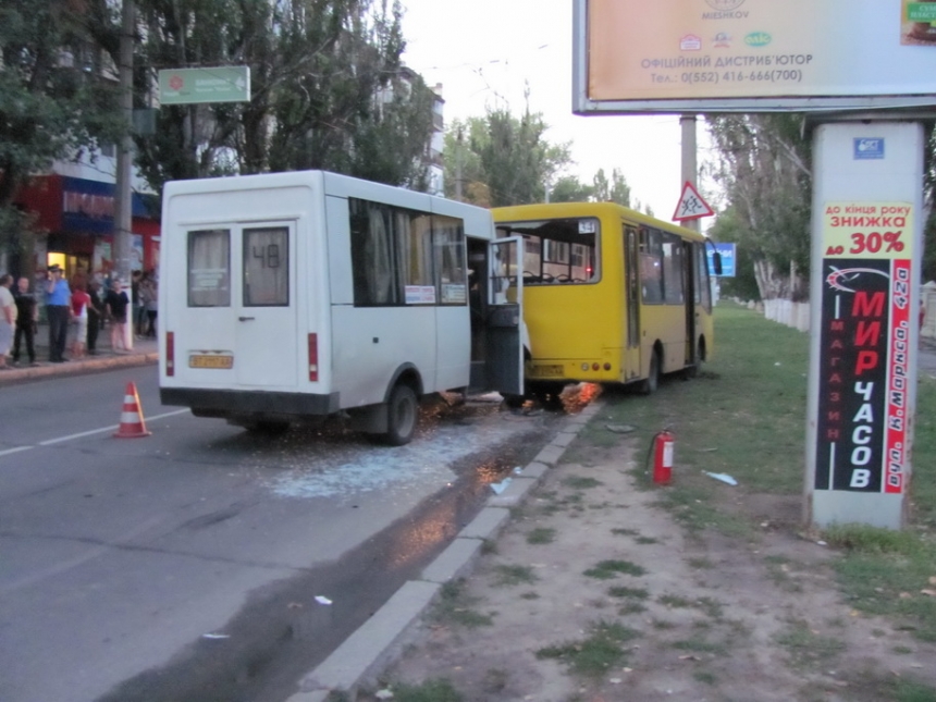
[[[801,114],[706,118],[718,152],[710,175],[736,221],[730,231],[750,256],[762,298],[809,294],[812,162]]]

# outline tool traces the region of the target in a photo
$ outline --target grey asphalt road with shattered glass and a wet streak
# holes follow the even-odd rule
[[[113,436],[127,382],[149,436]],[[482,401],[398,448],[341,427],[256,436],[160,406],[152,366],[4,399],[4,702],[285,699],[557,419]]]

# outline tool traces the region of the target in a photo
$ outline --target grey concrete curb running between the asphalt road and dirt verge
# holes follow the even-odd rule
[[[399,658],[442,586],[470,574],[484,541],[495,539],[509,521],[507,507],[519,505],[530,494],[600,408],[598,401],[570,417],[537,457],[510,477],[504,492],[488,498],[488,506],[426,567],[421,579],[405,583],[328,658],[303,677],[299,692],[286,702],[325,702],[332,692],[353,701],[358,688],[375,685],[378,677]]]

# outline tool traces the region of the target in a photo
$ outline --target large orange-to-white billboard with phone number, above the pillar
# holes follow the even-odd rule
[[[575,0],[574,111],[936,106],[933,0]]]

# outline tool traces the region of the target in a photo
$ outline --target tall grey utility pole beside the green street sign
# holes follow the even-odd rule
[[[122,26],[120,35],[120,111],[126,132],[118,145],[116,185],[114,188],[114,268],[116,276],[123,282],[130,295],[131,286],[131,251],[133,249],[133,190],[131,175],[133,170],[133,34],[136,9],[134,0],[123,0]],[[133,316],[133,307],[128,306],[128,318]],[[134,321],[127,319],[124,343],[133,348]]]

